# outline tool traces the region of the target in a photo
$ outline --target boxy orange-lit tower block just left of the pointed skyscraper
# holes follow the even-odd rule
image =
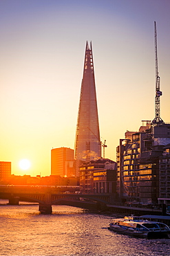
[[[59,147],[51,150],[51,174],[75,176],[74,149]]]

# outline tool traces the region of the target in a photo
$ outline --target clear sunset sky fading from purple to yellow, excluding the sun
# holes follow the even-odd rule
[[[106,158],[155,116],[154,21],[160,117],[170,122],[169,10],[169,0],[0,1],[0,161],[12,174],[48,176],[51,149],[74,149],[87,41]]]

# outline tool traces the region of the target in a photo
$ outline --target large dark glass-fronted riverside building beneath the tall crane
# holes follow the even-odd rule
[[[170,125],[146,122],[138,132],[127,132],[117,147],[117,192],[129,203],[156,204],[160,196],[160,159]]]

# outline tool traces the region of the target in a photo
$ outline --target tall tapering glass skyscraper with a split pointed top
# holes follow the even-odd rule
[[[100,131],[92,42],[85,48],[85,63],[81,84],[81,98],[76,127],[75,158],[82,161],[96,160],[101,156]]]

